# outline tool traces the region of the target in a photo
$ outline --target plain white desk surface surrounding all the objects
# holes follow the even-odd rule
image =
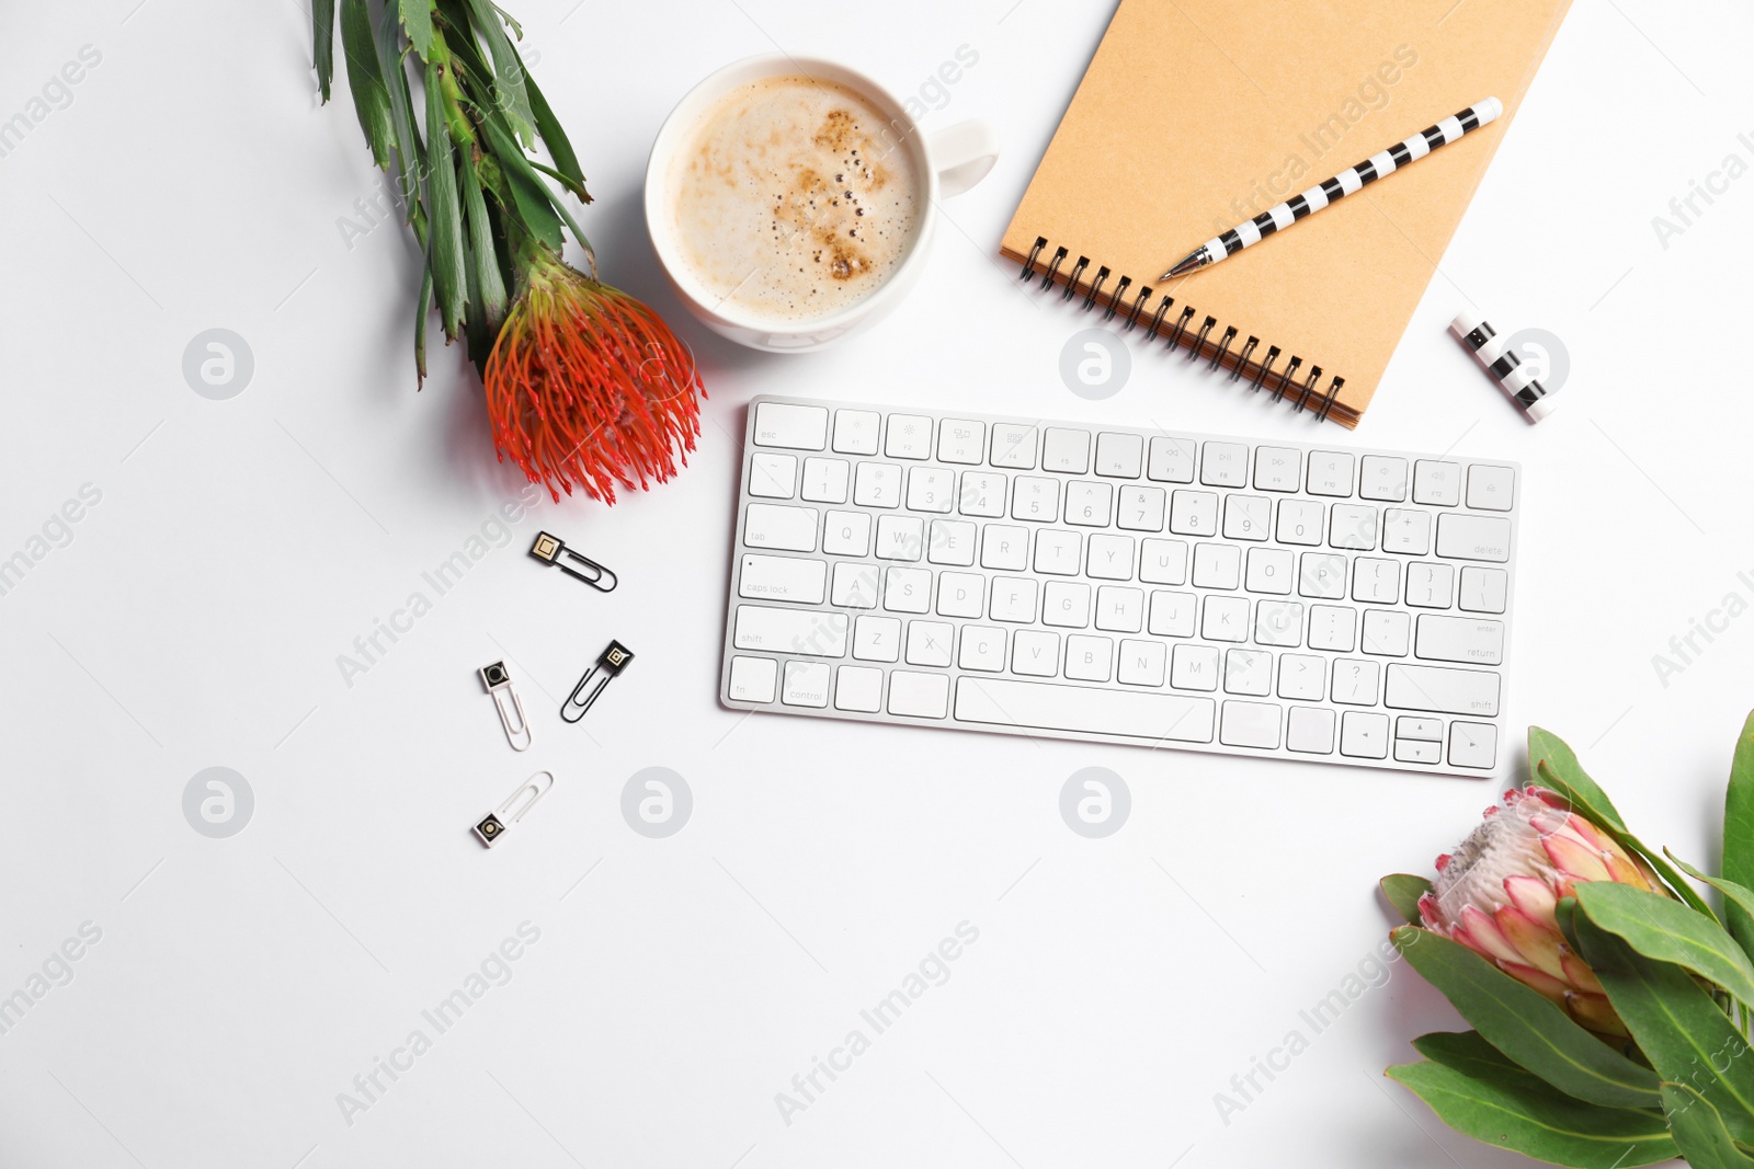
[[[342,240],[379,177],[340,77],[316,105],[305,5],[16,7],[0,116],[81,46],[102,61],[0,158],[0,557],[86,484],[102,498],[0,596],[0,995],[44,990],[0,1034],[0,1164],[1522,1164],[1380,1078],[1412,1036],[1458,1025],[1412,971],[1319,1034],[1300,1015],[1382,941],[1375,880],[1428,871],[1521,752],[1465,782],[716,703],[751,394],[1347,442],[1137,338],[1121,394],[1061,386],[1061,345],[1091,319],[1019,294],[995,252],[1109,4],[512,5],[584,159],[605,273],[695,345],[712,396],[677,482],[612,510],[544,499],[442,598],[421,573],[521,480],[456,349],[414,391],[403,231]],[[1568,736],[1647,840],[1707,864],[1754,705],[1754,617],[1666,685],[1652,655],[1726,594],[1754,598],[1754,177],[1714,181],[1666,245],[1652,217],[1726,156],[1754,161],[1750,33],[1726,2],[1573,7],[1358,433],[1522,461],[1510,722]],[[670,105],[775,44],[903,93],[970,46],[923,126],[979,114],[1005,137],[986,184],[945,205],[912,298],[814,356],[686,321],[640,212]],[[1565,340],[1552,419],[1526,426],[1447,337],[1463,296]],[[209,328],[254,356],[230,401],[182,379]],[[540,570],[538,528],[621,589]],[[416,591],[431,612],[349,687],[337,655]],[[563,726],[553,699],[609,638],[635,664]],[[531,708],[524,755],[474,677],[500,657]],[[182,815],[210,766],[254,794],[228,840]],[[667,840],[619,811],[647,766],[693,790]],[[1059,818],[1086,766],[1131,789],[1107,840]],[[484,852],[468,825],[537,768],[554,790]],[[32,983],[86,922],[102,938],[72,980]],[[540,939],[510,981],[440,1034],[423,1010],[523,922]],[[979,939],[949,981],[881,1034],[861,1022],[961,922]],[[344,1116],[337,1095],[414,1031],[431,1048]],[[775,1094],[851,1031],[870,1048],[817,1073],[786,1123]],[[1291,1031],[1307,1050],[1221,1116],[1214,1095]]]

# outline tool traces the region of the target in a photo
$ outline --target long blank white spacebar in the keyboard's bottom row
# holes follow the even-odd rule
[[[956,719],[1042,731],[1210,743],[1210,698],[1096,691],[1084,685],[970,678],[956,682]]]

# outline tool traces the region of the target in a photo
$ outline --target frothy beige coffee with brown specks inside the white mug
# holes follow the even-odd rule
[[[779,322],[828,317],[902,265],[919,166],[865,96],[812,77],[724,95],[670,166],[670,214],[707,303]]]

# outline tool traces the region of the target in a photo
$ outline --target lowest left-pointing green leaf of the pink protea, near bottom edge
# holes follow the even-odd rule
[[[1656,1111],[1586,1104],[1538,1081],[1505,1087],[1440,1062],[1400,1064],[1386,1074],[1456,1132],[1526,1157],[1575,1169],[1629,1169],[1675,1155]]]

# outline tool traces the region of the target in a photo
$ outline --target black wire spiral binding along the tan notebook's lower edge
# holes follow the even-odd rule
[[[1073,258],[1068,249],[1056,247],[1049,256],[1045,256],[1044,263],[1044,252],[1047,252],[1047,247],[1049,242],[1045,235],[1035,237],[1035,247],[1030,249],[1030,258],[1023,261],[1021,279],[1028,280],[1033,275],[1040,275],[1042,291],[1051,289],[1056,280],[1065,282],[1066,287],[1059,298],[1072,300],[1079,293],[1079,280],[1084,279],[1086,270],[1091,266],[1091,258]],[[1070,270],[1065,270],[1068,261],[1072,266]],[[1096,265],[1096,275],[1089,280],[1079,308],[1082,312],[1089,312],[1091,308],[1103,305],[1103,322],[1107,324],[1116,317],[1116,314],[1121,314],[1124,317],[1121,331],[1131,333],[1133,328],[1140,324],[1140,315],[1151,305],[1151,298],[1158,294],[1158,289],[1149,284],[1137,284],[1133,277],[1124,273],[1110,286],[1109,280],[1114,275],[1114,270],[1107,265]],[[1107,293],[1103,291],[1105,286],[1109,289]],[[1131,293],[1133,301],[1128,305],[1126,298],[1133,287],[1138,291]],[[1193,305],[1184,303],[1175,317],[1175,328],[1166,331],[1165,315],[1173,305],[1175,298],[1168,293],[1163,293],[1158,298],[1158,307],[1152,310],[1151,321],[1144,324],[1147,337],[1165,337],[1168,349],[1180,347],[1186,338],[1189,361],[1207,358],[1209,372],[1217,372],[1221,366],[1230,365],[1231,382],[1252,370],[1254,377],[1249,382],[1251,391],[1261,389],[1272,382],[1270,393],[1273,401],[1289,398],[1296,414],[1314,412],[1317,422],[1326,422],[1328,415],[1333,414],[1335,401],[1340,396],[1340,387],[1345,386],[1344,377],[1331,377],[1326,393],[1319,389],[1323,379],[1323,368],[1319,365],[1310,365],[1308,373],[1305,373],[1300,380],[1293,380],[1298,379],[1298,372],[1303,368],[1303,358],[1296,354],[1291,354],[1286,366],[1275,373],[1273,366],[1279,363],[1280,349],[1279,345],[1268,345],[1266,356],[1258,359],[1254,354],[1261,345],[1259,337],[1244,338],[1242,349],[1231,354],[1231,345],[1238,337],[1237,328],[1226,324],[1221,338],[1214,342],[1212,329],[1219,324],[1217,317],[1207,315],[1200,322],[1198,331],[1194,331],[1191,322],[1200,314]]]

